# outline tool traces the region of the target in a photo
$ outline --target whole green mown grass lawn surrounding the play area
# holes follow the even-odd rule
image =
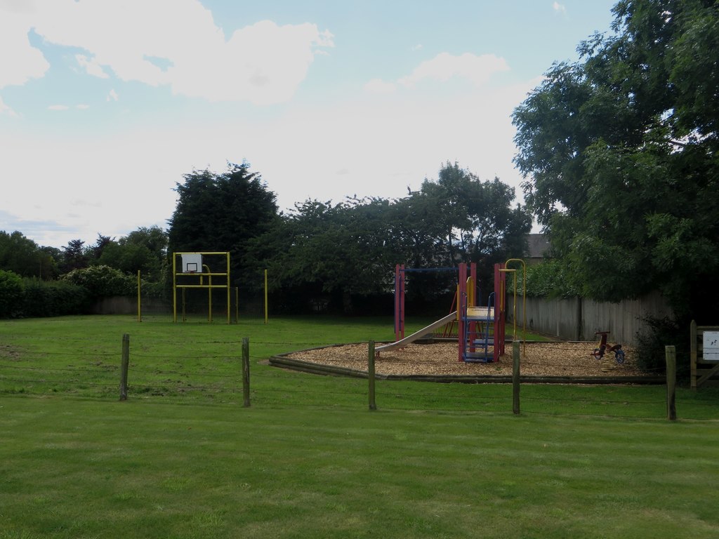
[[[719,536],[716,390],[669,422],[664,387],[525,385],[513,415],[504,384],[377,381],[370,411],[265,364],[391,325],[0,321],[0,539]]]

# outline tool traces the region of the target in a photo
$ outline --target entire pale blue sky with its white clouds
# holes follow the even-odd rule
[[[166,229],[195,170],[282,211],[400,198],[446,162],[523,201],[512,111],[615,0],[0,0],[0,230]]]

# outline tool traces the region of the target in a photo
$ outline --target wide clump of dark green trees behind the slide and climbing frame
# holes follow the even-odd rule
[[[521,256],[531,227],[528,213],[511,208],[513,195],[497,179],[482,183],[448,163],[438,182],[426,180],[406,198],[298,203],[249,254],[257,267],[270,268],[270,285],[296,309],[322,298],[335,310],[362,303],[369,310],[369,298],[393,290],[395,264],[456,267],[474,260],[486,266],[491,288],[493,262]],[[446,309],[456,285],[452,273],[413,274],[408,298]]]

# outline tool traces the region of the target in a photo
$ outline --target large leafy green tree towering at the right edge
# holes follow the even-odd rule
[[[526,200],[582,293],[719,300],[719,4],[623,0],[513,114]],[[713,320],[715,323],[716,320]]]

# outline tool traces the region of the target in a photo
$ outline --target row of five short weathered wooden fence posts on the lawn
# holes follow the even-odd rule
[[[674,346],[665,347],[667,362],[667,419],[677,419],[677,352]],[[130,359],[130,336],[122,336],[122,364],[120,368],[120,400],[127,400],[127,372]],[[519,342],[512,343],[512,411],[520,413],[519,390],[520,383],[520,353]],[[367,351],[367,395],[370,410],[377,410],[375,401],[375,341],[370,341]],[[249,407],[249,338],[242,339],[242,405]]]

